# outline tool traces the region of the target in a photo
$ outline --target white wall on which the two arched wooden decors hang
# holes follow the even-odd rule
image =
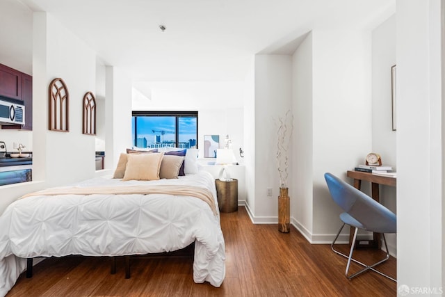
[[[35,18],[34,29],[38,29],[39,21],[45,22],[44,17]],[[35,150],[33,159],[46,154],[46,175],[41,175],[42,171],[38,166],[33,166],[33,173],[35,172],[36,179],[45,179],[48,186],[52,186],[88,179],[95,172],[95,137],[82,134],[82,106],[83,95],[88,91],[95,93],[96,55],[83,40],[65,29],[49,14],[46,18],[46,33],[46,69],[44,72],[33,71],[33,77],[44,75],[44,86],[49,86],[52,79],[60,77],[70,92],[69,133],[49,131],[47,125],[33,126],[34,143],[39,143],[38,147],[34,145],[38,149]],[[39,41],[34,39],[33,42]],[[33,59],[39,58],[37,55],[33,56]],[[40,88],[33,90],[33,106],[38,106],[38,111],[33,113],[33,122],[47,124],[47,104],[48,91],[41,92]],[[41,144],[42,140],[46,142],[44,145]]]

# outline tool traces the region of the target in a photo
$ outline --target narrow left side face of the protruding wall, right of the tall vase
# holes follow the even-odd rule
[[[294,119],[291,182],[291,218],[302,234],[313,230],[312,182],[312,33],[292,56],[292,110]]]

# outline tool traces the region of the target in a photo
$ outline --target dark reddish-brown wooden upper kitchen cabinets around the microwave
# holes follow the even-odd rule
[[[0,95],[19,99],[25,105],[25,125],[2,125],[2,129],[33,129],[33,77],[0,64]]]

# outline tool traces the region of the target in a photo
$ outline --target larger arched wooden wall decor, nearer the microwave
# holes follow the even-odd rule
[[[63,79],[49,84],[49,130],[70,131],[70,94]]]

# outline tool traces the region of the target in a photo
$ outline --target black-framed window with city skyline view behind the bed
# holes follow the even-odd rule
[[[133,111],[135,147],[197,147],[197,111]]]

